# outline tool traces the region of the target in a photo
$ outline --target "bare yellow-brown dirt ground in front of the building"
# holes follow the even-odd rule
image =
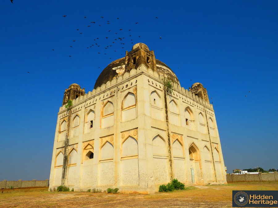
[[[155,194],[48,192],[47,188],[0,190],[0,207],[232,207],[232,190],[278,190],[276,182],[191,186]]]

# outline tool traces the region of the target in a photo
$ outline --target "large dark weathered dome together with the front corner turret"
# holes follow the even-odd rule
[[[136,54],[137,51],[142,50],[145,52],[145,56],[140,53]],[[149,54],[150,53],[150,54]],[[162,61],[154,58],[154,52],[149,50],[149,47],[144,43],[137,43],[132,47],[130,52],[126,53],[127,55],[123,58],[117,59],[111,62],[103,71],[100,73],[98,79],[95,82],[94,89],[100,87],[102,84],[106,84],[108,81],[111,81],[113,78],[117,78],[119,75],[123,75],[124,72],[129,72],[132,68],[137,68],[138,64],[145,64],[147,68],[154,70],[152,63],[155,63],[155,68],[158,74],[163,75],[167,79],[173,81],[174,83],[179,84],[179,80],[175,73]],[[153,57],[153,61],[149,61],[147,57]],[[132,57],[136,57],[136,64],[129,63]],[[146,61],[144,61],[146,59]],[[137,66],[137,67],[136,67]]]

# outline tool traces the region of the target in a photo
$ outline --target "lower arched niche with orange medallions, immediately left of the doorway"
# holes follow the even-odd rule
[[[173,137],[173,177],[184,183],[186,182],[186,164],[184,157],[183,137],[177,134],[173,134],[172,138]]]

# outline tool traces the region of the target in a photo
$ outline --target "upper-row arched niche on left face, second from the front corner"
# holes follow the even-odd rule
[[[102,102],[101,110],[101,128],[106,128],[114,125],[114,105],[110,100]]]

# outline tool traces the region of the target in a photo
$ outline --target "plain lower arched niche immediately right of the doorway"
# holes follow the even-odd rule
[[[204,146],[202,152],[202,163],[203,165],[203,175],[204,175],[204,183],[209,183],[212,181],[215,181],[214,178],[214,168],[213,168],[213,162],[212,162],[212,156],[211,152],[208,148],[208,146]]]

